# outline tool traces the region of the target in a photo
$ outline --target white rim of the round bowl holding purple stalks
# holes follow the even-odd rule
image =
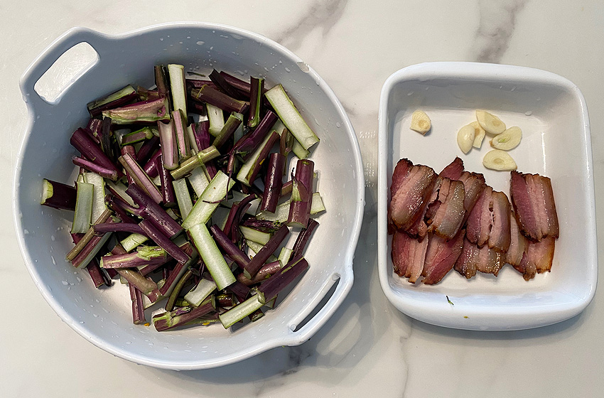
[[[340,276],[340,280],[338,282],[338,286],[336,290],[333,292],[333,295],[330,297],[327,303],[320,308],[320,311],[316,313],[310,321],[308,321],[304,326],[296,330],[288,330],[288,335],[284,335],[284,338],[266,340],[264,343],[258,344],[254,347],[245,348],[244,352],[234,353],[232,355],[226,355],[225,357],[220,357],[215,360],[197,360],[190,362],[168,362],[161,360],[153,360],[146,355],[140,355],[139,353],[134,353],[131,351],[124,350],[117,345],[112,345],[107,341],[104,341],[100,338],[95,338],[94,333],[90,333],[88,328],[80,325],[79,322],[75,321],[75,318],[70,316],[70,313],[65,311],[63,306],[50,294],[47,286],[43,283],[40,278],[40,274],[33,264],[30,254],[26,249],[25,237],[23,235],[23,227],[21,225],[21,207],[20,203],[20,193],[19,193],[19,179],[21,176],[21,168],[23,166],[23,153],[27,147],[28,141],[31,138],[31,131],[33,127],[33,122],[36,119],[36,109],[39,107],[45,107],[46,104],[38,95],[33,92],[33,84],[38,80],[38,78],[45,72],[45,70],[52,65],[55,60],[57,60],[60,55],[62,55],[65,50],[68,50],[73,45],[77,43],[87,42],[87,39],[93,39],[97,41],[120,41],[123,39],[134,38],[136,36],[142,36],[145,33],[151,33],[156,31],[164,31],[164,30],[173,30],[173,29],[214,29],[217,31],[222,31],[225,33],[231,33],[233,35],[242,36],[245,38],[249,38],[252,41],[257,41],[262,43],[262,45],[269,46],[274,49],[278,53],[282,53],[286,58],[290,58],[294,62],[302,62],[302,59],[299,58],[296,54],[288,50],[288,48],[283,45],[272,41],[265,36],[262,36],[259,33],[254,33],[252,31],[247,31],[242,28],[237,28],[234,26],[228,26],[220,23],[208,23],[208,22],[191,22],[191,21],[183,21],[183,22],[168,22],[168,23],[159,23],[151,26],[145,26],[143,28],[137,28],[132,31],[127,31],[125,33],[119,33],[116,35],[107,35],[105,33],[101,33],[99,31],[95,31],[89,28],[75,27],[71,28],[68,31],[65,31],[62,35],[58,36],[47,48],[45,48],[37,57],[33,60],[33,62],[26,68],[25,72],[21,76],[19,81],[19,85],[21,88],[21,93],[23,95],[23,100],[26,102],[28,107],[28,122],[26,125],[26,133],[23,135],[21,139],[21,144],[18,149],[16,168],[13,175],[13,186],[12,186],[12,208],[13,208],[13,220],[14,226],[16,230],[18,247],[21,251],[21,256],[26,264],[26,267],[29,271],[31,278],[34,283],[38,287],[38,290],[41,292],[42,296],[45,298],[45,301],[50,305],[51,308],[58,314],[58,316],[68,325],[75,330],[79,335],[83,338],[86,338],[91,343],[96,345],[98,348],[102,348],[102,350],[107,351],[108,353],[112,353],[117,357],[122,357],[125,360],[129,360],[131,362],[139,363],[141,365],[149,365],[152,367],[158,367],[163,369],[170,370],[200,370],[200,369],[209,369],[212,367],[219,367],[223,365],[229,365],[234,362],[238,362],[240,360],[247,359],[259,353],[262,353],[271,348],[276,348],[281,345],[300,345],[305,342],[309,338],[312,337],[316,331],[322,327],[333,315],[335,310],[340,306],[340,304],[344,301],[347,294],[352,289],[352,283],[354,280],[353,271],[352,271],[352,259],[354,258],[355,249],[357,247],[357,242],[360,236],[360,229],[362,225],[363,212],[365,208],[365,181],[363,179],[363,171],[362,171],[362,158],[360,154],[360,147],[358,144],[358,140],[355,134],[355,130],[352,127],[352,122],[350,122],[350,118],[347,116],[343,105],[340,103],[338,97],[335,96],[335,93],[329,87],[327,82],[323,80],[323,77],[320,77],[318,73],[308,65],[308,73],[313,75],[313,78],[316,80],[318,87],[325,93],[330,102],[335,106],[336,111],[340,114],[342,121],[344,122],[342,127],[345,129],[348,139],[352,144],[352,158],[353,163],[352,166],[356,172],[356,203],[355,203],[355,215],[354,222],[351,226],[352,230],[352,239],[348,242],[347,247],[345,249],[345,255],[342,261],[341,271],[338,271]],[[92,45],[92,44],[91,44]],[[92,46],[95,48],[95,46]],[[97,50],[97,48],[95,48]],[[102,54],[97,50],[99,56]],[[74,77],[74,81],[77,80],[82,75],[89,70],[89,68],[84,68],[80,75]],[[65,95],[65,92],[68,92],[70,87],[67,87],[63,93],[55,100],[55,103],[59,102],[61,97]],[[331,286],[331,284],[328,286]],[[328,289],[323,289],[321,294],[325,295]],[[319,298],[320,301],[320,298]],[[311,308],[312,309],[312,308]]]

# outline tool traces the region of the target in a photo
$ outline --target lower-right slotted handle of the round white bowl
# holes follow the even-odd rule
[[[304,343],[306,340],[311,338],[321,326],[323,326],[323,324],[340,306],[340,303],[344,301],[350,289],[352,289],[353,279],[354,276],[352,276],[352,267],[344,267],[344,272],[343,274],[340,274],[339,281],[337,279],[334,279],[333,281],[333,283],[338,283],[338,286],[335,286],[335,291],[333,291],[331,297],[328,299],[325,305],[320,308],[315,316],[308,320],[308,322],[301,326],[301,328],[298,330],[295,330],[295,323],[303,321],[303,319],[308,316],[308,313],[311,313],[315,308],[311,308],[308,313],[303,313],[298,316],[296,320],[294,320],[294,325],[289,330],[288,345],[300,345],[301,343]],[[324,294],[328,293],[333,286],[333,283],[325,284],[323,288]]]

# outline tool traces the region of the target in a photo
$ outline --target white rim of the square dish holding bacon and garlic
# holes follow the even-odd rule
[[[394,277],[390,260],[387,255],[387,191],[389,187],[387,181],[387,156],[389,151],[387,147],[388,133],[388,106],[389,95],[394,87],[400,82],[407,80],[422,80],[432,78],[451,79],[457,82],[470,82],[475,80],[487,80],[492,82],[497,80],[500,82],[537,82],[548,85],[556,85],[570,92],[581,105],[581,124],[582,131],[579,134],[583,135],[586,142],[586,200],[589,208],[587,209],[590,215],[589,230],[593,234],[587,239],[588,256],[592,260],[586,269],[586,294],[581,297],[576,297],[572,303],[558,306],[549,306],[547,309],[537,308],[497,308],[497,307],[475,307],[463,308],[464,313],[468,316],[482,317],[485,326],[469,327],[468,323],[462,323],[461,320],[456,320],[448,316],[450,311],[436,310],[421,298],[404,297],[397,294],[392,289],[389,279]],[[595,289],[598,283],[598,249],[595,225],[595,190],[593,182],[593,161],[590,141],[590,126],[588,109],[585,98],[581,90],[570,80],[556,75],[553,72],[539,70],[535,68],[527,68],[517,65],[501,65],[492,63],[472,63],[472,62],[432,62],[410,65],[402,68],[390,75],[382,86],[379,98],[379,143],[378,143],[378,274],[379,282],[382,286],[384,295],[388,300],[401,312],[407,316],[416,318],[419,321],[431,323],[437,326],[448,328],[458,328],[467,330],[522,330],[527,328],[537,328],[547,326],[553,323],[565,321],[568,318],[581,313],[583,309],[593,300]],[[446,303],[446,301],[445,301]],[[441,308],[442,309],[442,308]],[[450,309],[450,308],[447,308]],[[455,308],[457,309],[457,308]],[[488,313],[487,313],[488,312]],[[436,316],[438,313],[441,317]],[[532,315],[532,317],[527,317]],[[539,316],[549,316],[546,320],[540,320]],[[501,318],[500,318],[501,317]],[[503,321],[503,322],[502,322]],[[512,323],[512,326],[504,326],[505,323]]]

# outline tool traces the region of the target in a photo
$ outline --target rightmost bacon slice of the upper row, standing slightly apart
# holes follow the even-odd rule
[[[559,236],[554,191],[548,177],[512,171],[509,193],[524,236],[534,242]]]

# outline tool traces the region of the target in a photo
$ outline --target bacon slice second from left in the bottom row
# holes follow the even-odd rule
[[[465,230],[460,230],[451,240],[444,240],[438,235],[428,234],[428,249],[424,262],[424,284],[436,284],[451,271],[461,254]]]

